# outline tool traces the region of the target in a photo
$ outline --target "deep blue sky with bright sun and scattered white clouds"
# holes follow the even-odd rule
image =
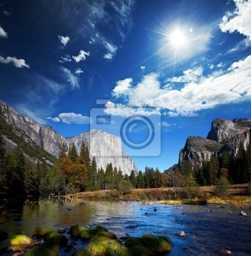
[[[163,172],[213,119],[251,118],[250,24],[251,0],[0,0],[0,100]]]

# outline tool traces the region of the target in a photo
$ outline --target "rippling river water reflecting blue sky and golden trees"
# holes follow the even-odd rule
[[[247,217],[240,216],[241,210]],[[137,201],[72,205],[40,201],[0,211],[0,230],[8,232],[10,237],[15,234],[31,236],[34,227],[69,230],[74,224],[102,225],[118,237],[148,233],[167,236],[173,244],[170,256],[229,255],[227,251],[236,256],[251,255],[251,205],[177,206]],[[184,237],[178,236],[181,230],[185,232]],[[6,244],[8,240],[0,242],[0,248]],[[76,246],[86,245],[79,241]],[[62,250],[60,256],[72,252]]]

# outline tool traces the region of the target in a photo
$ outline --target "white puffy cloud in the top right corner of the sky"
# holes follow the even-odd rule
[[[251,40],[251,1],[250,0],[233,0],[236,4],[234,12],[227,12],[220,22],[222,32],[239,33]]]

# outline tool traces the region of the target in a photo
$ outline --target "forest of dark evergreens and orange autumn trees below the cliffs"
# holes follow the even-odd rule
[[[210,161],[193,166],[190,162],[175,164],[171,171],[161,173],[158,168],[146,166],[144,172],[123,170],[107,164],[97,168],[95,157],[89,156],[82,142],[79,154],[74,144],[69,150],[63,144],[55,164],[45,158],[29,159],[17,146],[6,150],[0,134],[0,198],[19,196],[65,195],[80,191],[102,189],[166,188],[211,186],[217,182],[227,184],[248,183],[251,180],[251,141],[247,150],[240,143],[235,157],[229,152],[213,156]]]

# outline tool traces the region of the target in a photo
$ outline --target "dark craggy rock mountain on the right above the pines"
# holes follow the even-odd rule
[[[247,148],[250,128],[251,119],[236,118],[233,121],[215,119],[207,138],[197,136],[187,138],[184,148],[179,151],[179,163],[192,161],[201,165],[204,161],[209,161],[212,156],[222,154],[224,151],[236,156],[241,141],[245,149]]]

